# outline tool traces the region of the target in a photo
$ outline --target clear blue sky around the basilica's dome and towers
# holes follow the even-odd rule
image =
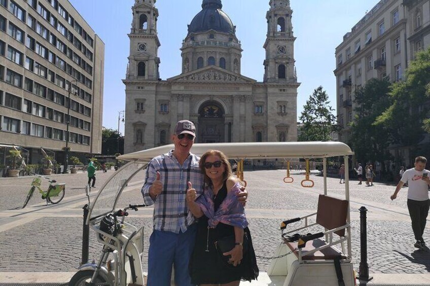
[[[118,111],[125,109],[125,77],[134,0],[69,0],[105,44],[103,126],[118,128]],[[158,36],[161,42],[160,76],[181,73],[182,40],[187,24],[201,10],[201,0],[158,0]],[[324,87],[336,108],[335,48],[343,35],[378,0],[291,0],[298,81],[298,116],[313,90]],[[263,61],[269,0],[222,0],[223,11],[236,25],[242,43],[242,74],[263,80]],[[120,125],[124,133],[124,125]]]

